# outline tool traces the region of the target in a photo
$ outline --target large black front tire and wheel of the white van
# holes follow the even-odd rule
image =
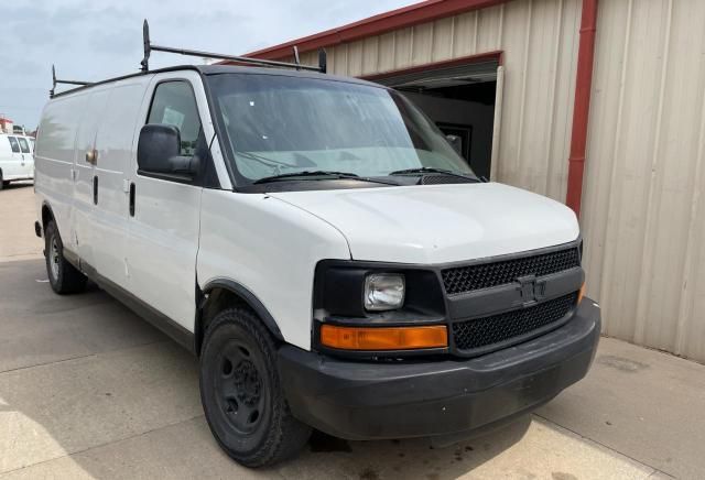
[[[200,401],[210,432],[237,462],[270,466],[296,455],[311,427],[294,418],[276,369],[276,347],[247,308],[219,313],[200,354]]]

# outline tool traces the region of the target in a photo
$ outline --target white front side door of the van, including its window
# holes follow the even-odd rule
[[[198,76],[191,74],[152,79],[135,138],[148,123],[174,126],[181,133],[180,154],[194,154],[197,142],[203,141],[194,86],[203,87]],[[159,313],[192,329],[202,186],[197,179],[140,172],[137,156],[129,175],[129,290]]]

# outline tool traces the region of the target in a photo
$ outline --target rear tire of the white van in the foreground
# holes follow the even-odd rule
[[[88,279],[64,258],[64,243],[54,220],[44,231],[44,259],[52,290],[59,295],[83,292]]]

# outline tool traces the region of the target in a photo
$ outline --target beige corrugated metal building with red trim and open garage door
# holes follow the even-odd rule
[[[605,334],[705,361],[703,25],[702,0],[430,0],[250,55],[406,91],[579,214]]]

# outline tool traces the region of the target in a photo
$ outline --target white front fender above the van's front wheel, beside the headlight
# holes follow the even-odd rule
[[[345,237],[319,218],[267,195],[205,189],[198,283],[231,280],[250,291],[288,342],[311,348],[313,281],[323,259],[349,260]]]

